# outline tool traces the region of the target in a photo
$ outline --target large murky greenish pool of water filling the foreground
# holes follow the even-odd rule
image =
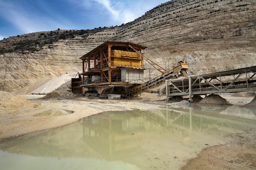
[[[226,134],[256,128],[255,123],[254,113],[233,106],[107,112],[2,143],[0,148],[6,152],[0,156],[15,153],[15,157],[52,158],[58,163],[72,159],[70,164],[90,159],[104,169],[108,163],[109,169],[179,169],[205,144],[224,144],[229,140]],[[6,162],[0,159],[0,164]],[[78,169],[93,166],[81,164]]]

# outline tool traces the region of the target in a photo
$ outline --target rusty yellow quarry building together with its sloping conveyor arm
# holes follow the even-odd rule
[[[181,61],[166,71],[143,54],[146,48],[130,42],[106,41],[83,55],[80,58],[83,60],[80,83],[83,93],[91,92],[100,97],[109,94],[136,95],[165,82],[165,79],[187,75],[186,62]],[[162,75],[144,82],[144,60]]]

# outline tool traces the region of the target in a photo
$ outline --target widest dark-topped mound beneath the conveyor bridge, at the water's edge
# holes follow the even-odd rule
[[[204,97],[198,104],[223,104],[231,105],[226,99],[220,97],[219,95],[211,94],[207,97]]]

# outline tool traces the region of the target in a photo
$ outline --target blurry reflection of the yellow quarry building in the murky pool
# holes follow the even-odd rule
[[[114,113],[113,113],[114,114]],[[115,155],[125,150],[135,151],[144,142],[144,118],[139,115],[126,117],[105,113],[83,122],[83,140],[95,151]]]

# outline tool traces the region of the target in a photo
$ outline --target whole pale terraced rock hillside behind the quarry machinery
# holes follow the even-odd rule
[[[145,55],[166,69],[185,60],[191,75],[254,66],[256,1],[172,0],[122,26],[58,40],[35,52],[3,53],[0,90],[16,91],[40,79],[81,72],[79,57],[106,40],[148,46]]]

